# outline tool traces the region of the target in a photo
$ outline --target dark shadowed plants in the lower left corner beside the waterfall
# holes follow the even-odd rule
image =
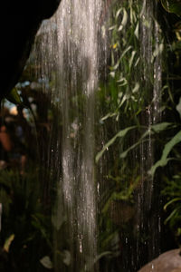
[[[43,211],[38,174],[37,169],[24,175],[17,170],[1,170],[1,269],[42,271],[40,259],[46,251],[51,252],[50,215]]]

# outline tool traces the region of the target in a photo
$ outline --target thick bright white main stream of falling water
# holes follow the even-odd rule
[[[94,173],[94,92],[98,88],[98,31],[101,1],[62,1],[56,15],[43,24],[44,78],[54,73],[52,107],[58,107],[56,140],[50,150],[52,171],[57,171],[58,199],[55,217],[65,217],[56,242],[57,271],[95,271],[97,256],[96,181]],[[47,31],[49,25],[50,31]],[[54,49],[53,49],[54,48]],[[52,52],[54,50],[55,52]],[[52,52],[52,53],[51,53]],[[53,64],[52,63],[53,55]],[[51,58],[51,59],[49,59]],[[52,69],[55,69],[52,71]],[[45,90],[46,92],[46,90]],[[81,104],[81,108],[80,108]],[[52,138],[54,138],[52,131]],[[51,156],[49,156],[51,157]],[[53,174],[54,175],[54,174]],[[63,209],[62,209],[63,207]],[[63,221],[63,219],[61,219]],[[63,223],[63,222],[62,222]],[[55,240],[59,240],[55,235]],[[67,266],[67,267],[66,267]]]

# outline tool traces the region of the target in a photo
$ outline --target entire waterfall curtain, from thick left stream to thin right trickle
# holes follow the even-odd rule
[[[52,259],[57,272],[136,272],[144,263],[141,259],[143,252],[147,260],[159,252],[159,230],[150,234],[151,228],[159,229],[158,215],[147,217],[152,210],[155,191],[148,170],[154,163],[151,126],[161,119],[163,44],[157,23],[157,1],[129,0],[129,9],[124,10],[126,5],[128,3],[124,1],[118,6],[114,1],[62,0],[56,14],[43,22],[37,34],[41,83],[53,112],[46,167],[57,192],[52,203]],[[139,24],[134,29],[139,48],[132,44],[123,51],[120,48],[127,44],[124,34],[129,26],[126,28],[126,25],[136,22],[132,5],[136,5],[139,13]],[[117,35],[111,32],[116,29],[110,23],[112,17],[117,18],[118,33],[123,35],[122,40],[114,44],[111,39]],[[130,49],[129,60],[121,63]],[[110,63],[114,69],[109,67]],[[128,63],[132,69],[129,72]],[[131,68],[132,63],[134,68]],[[119,67],[119,71],[115,67]],[[126,78],[123,73],[130,74],[126,74]],[[110,84],[112,78],[115,79],[114,87]],[[118,92],[114,94],[112,91],[112,97],[116,96],[113,102],[110,91],[107,94],[111,88]],[[142,104],[138,92],[148,95],[143,102],[143,107],[147,105],[147,112],[143,110],[138,115],[139,126],[149,131],[148,141],[142,141],[128,160],[117,161],[125,146],[131,145],[135,139],[138,141],[138,132],[133,131],[126,144],[119,141],[116,149],[109,145],[96,164],[95,157],[100,149],[104,149],[111,138],[118,140],[114,136],[127,127],[126,118],[124,120],[122,113],[119,116],[118,109],[120,112],[124,106],[122,111],[129,111],[131,99]],[[104,102],[101,102],[102,97]],[[106,105],[110,115],[106,110],[104,112],[102,105]],[[133,115],[137,111],[136,108]],[[134,118],[127,119],[129,126],[133,125]],[[134,179],[140,184],[129,199],[124,192],[129,192]],[[145,236],[150,235],[148,239],[144,237],[144,243],[140,241],[142,232]]]

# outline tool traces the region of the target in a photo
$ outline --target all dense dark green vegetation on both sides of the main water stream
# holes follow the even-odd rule
[[[116,3],[101,28],[109,67],[96,92],[95,182],[101,182],[95,261],[104,272],[137,271],[160,250],[181,243],[180,4],[161,4]],[[56,120],[59,108],[43,92],[45,85],[55,88],[55,76],[42,78],[41,69],[32,54],[8,97],[18,114],[2,112],[4,120],[11,117],[5,125],[16,147],[0,175],[2,271],[56,271],[60,263],[68,271],[71,262],[67,241],[54,252],[53,236],[66,228],[66,219],[54,215],[57,173],[48,169],[51,131],[61,131],[62,123]],[[82,96],[78,102],[81,112]],[[17,126],[24,131],[21,141]]]

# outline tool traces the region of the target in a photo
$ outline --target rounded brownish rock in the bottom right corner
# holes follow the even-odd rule
[[[138,272],[181,272],[180,249],[161,254]]]

